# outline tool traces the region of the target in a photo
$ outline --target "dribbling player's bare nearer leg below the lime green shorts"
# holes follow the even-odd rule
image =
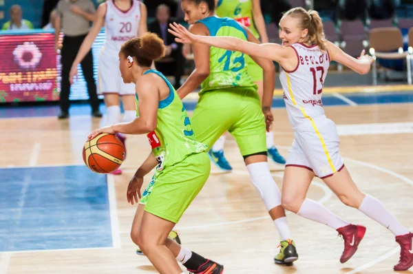
[[[182,269],[175,260],[172,252],[167,248],[166,240],[175,223],[153,215],[147,211],[143,213],[138,245],[147,255],[156,270],[161,274],[180,274]]]

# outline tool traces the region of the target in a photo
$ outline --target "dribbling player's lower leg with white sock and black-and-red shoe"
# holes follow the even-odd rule
[[[224,266],[221,264],[206,259],[169,238],[167,239],[166,245],[176,257],[176,260],[185,266],[188,271],[191,271],[191,273],[221,274],[224,271]]]

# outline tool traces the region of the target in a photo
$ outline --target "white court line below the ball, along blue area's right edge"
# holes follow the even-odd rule
[[[119,233],[119,220],[118,220],[118,208],[116,207],[116,192],[114,184],[114,176],[107,174],[107,193],[109,196],[109,211],[110,211],[110,224],[112,230],[112,245],[115,249],[120,248],[120,233]]]

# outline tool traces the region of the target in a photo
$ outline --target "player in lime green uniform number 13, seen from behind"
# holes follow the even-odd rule
[[[214,0],[183,0],[182,10],[193,34],[219,39],[234,36],[258,43],[244,25],[233,19],[215,17]],[[260,98],[257,85],[248,75],[244,54],[200,43],[194,43],[192,49],[195,70],[178,89],[178,94],[184,98],[201,84],[200,98],[191,116],[193,132],[197,140],[208,147],[226,131],[234,136],[251,181],[279,232],[281,250],[274,261],[291,264],[298,259],[298,254],[281,206],[281,193],[267,162],[266,129],[273,123],[275,67],[269,60],[254,57],[263,68],[265,80]]]

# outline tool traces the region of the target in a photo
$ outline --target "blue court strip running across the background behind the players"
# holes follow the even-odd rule
[[[352,101],[357,105],[372,105],[372,104],[391,104],[391,103],[413,103],[413,92],[361,92],[353,94],[339,94],[344,98]],[[184,105],[187,110],[195,109],[197,101],[184,100]],[[323,95],[324,106],[335,105],[350,105],[349,101],[335,96],[334,94]],[[282,96],[275,96],[273,98],[273,107],[285,107]],[[105,106],[100,105],[100,109],[105,113]],[[87,104],[74,103],[70,107],[70,115],[89,115],[91,109]],[[19,107],[1,107],[0,118],[16,118],[16,117],[47,117],[57,116],[59,114],[59,106],[19,106]]]

